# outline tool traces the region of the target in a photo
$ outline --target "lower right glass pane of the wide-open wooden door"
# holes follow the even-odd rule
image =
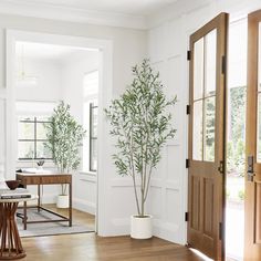
[[[215,161],[215,112],[216,96],[205,100],[203,160]]]

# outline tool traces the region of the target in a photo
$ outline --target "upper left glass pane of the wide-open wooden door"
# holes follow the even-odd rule
[[[194,45],[194,100],[203,96],[203,38]]]

